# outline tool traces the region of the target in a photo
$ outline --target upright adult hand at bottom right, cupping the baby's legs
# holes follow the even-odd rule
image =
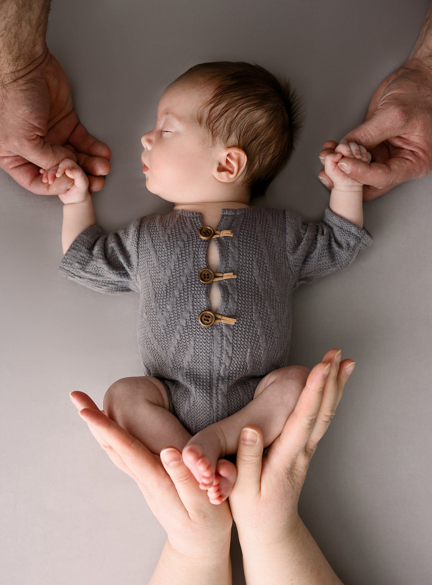
[[[240,543],[252,539],[272,545],[296,529],[298,501],[310,459],[336,412],[348,380],[345,370],[349,363],[355,363],[345,359],[338,365],[334,361],[337,353],[331,349],[310,371],[294,410],[264,457],[260,429],[248,425],[258,433],[255,445],[245,445],[240,436],[237,479],[228,497]],[[330,370],[326,378],[327,363]]]

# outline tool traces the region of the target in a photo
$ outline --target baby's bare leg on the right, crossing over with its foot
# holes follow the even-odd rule
[[[199,481],[200,487],[211,487],[212,493],[215,493],[217,459],[236,453],[244,426],[254,425],[261,429],[264,447],[281,434],[286,419],[305,387],[309,372],[304,366],[287,366],[270,372],[262,378],[255,389],[253,400],[246,407],[199,431],[188,441],[182,451],[182,459]],[[196,465],[198,460],[203,459],[206,460],[206,468]]]

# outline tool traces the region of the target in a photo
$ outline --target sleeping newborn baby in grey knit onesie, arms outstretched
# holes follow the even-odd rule
[[[267,448],[305,386],[309,370],[286,366],[292,291],[346,268],[372,241],[362,184],[338,166],[343,157],[369,164],[361,144],[325,157],[334,188],[322,221],[250,205],[291,157],[299,103],[288,81],[256,64],[204,63],[180,75],[141,138],[146,187],[174,207],[115,233],[96,225],[78,164],[41,169],[44,182],[71,180],[58,194],[61,273],[95,291],[140,293],[145,375],[112,384],[105,414],[157,455],[181,450],[214,504],[236,479],[223,457],[236,453],[243,426],[258,426]]]

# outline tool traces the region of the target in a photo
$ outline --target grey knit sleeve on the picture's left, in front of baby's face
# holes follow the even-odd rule
[[[71,243],[61,260],[63,276],[98,292],[139,292],[141,218],[114,233],[91,225]]]

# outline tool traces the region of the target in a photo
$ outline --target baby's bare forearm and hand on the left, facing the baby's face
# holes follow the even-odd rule
[[[63,159],[56,167],[41,169],[40,172],[43,173],[44,183],[52,184],[54,177],[61,177],[63,174],[72,179],[68,190],[58,194],[64,203],[61,244],[65,254],[74,239],[96,223],[93,202],[88,191],[88,177],[72,159]]]

